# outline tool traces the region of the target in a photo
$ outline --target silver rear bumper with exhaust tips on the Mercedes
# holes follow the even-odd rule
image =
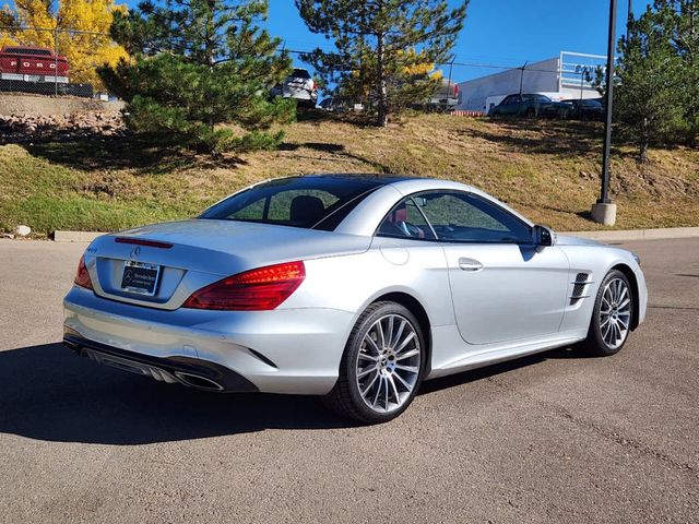
[[[78,354],[213,391],[325,394],[337,380],[356,320],[351,312],[323,308],[168,311],[79,287],[63,307],[64,342]]]

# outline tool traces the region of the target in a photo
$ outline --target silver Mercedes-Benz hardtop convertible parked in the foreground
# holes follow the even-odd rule
[[[97,238],[63,342],[159,381],[323,395],[381,422],[423,380],[573,344],[614,355],[647,300],[633,253],[557,237],[472,187],[304,176]]]

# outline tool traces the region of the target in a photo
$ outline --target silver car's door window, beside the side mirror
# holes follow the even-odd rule
[[[425,193],[415,202],[439,240],[531,243],[530,227],[498,205],[460,192]]]

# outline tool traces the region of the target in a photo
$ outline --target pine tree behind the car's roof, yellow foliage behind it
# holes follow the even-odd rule
[[[426,67],[450,60],[467,0],[296,0],[306,25],[332,38],[303,58],[335,94],[363,102],[387,126],[389,115],[429,97],[439,74]]]

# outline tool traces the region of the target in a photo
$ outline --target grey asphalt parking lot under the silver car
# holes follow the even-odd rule
[[[60,300],[85,246],[0,240],[0,521],[699,522],[699,239],[626,246],[650,308],[619,355],[431,381],[354,427],[74,357]]]

